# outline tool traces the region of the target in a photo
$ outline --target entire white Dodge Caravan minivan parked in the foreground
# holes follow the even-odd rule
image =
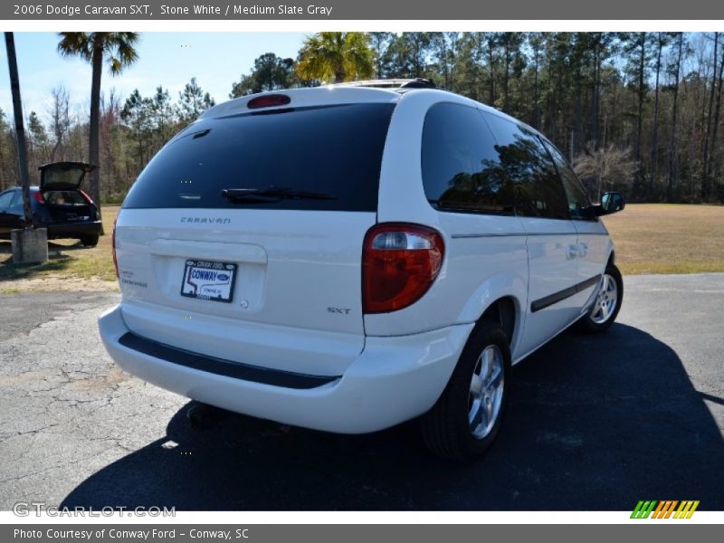
[[[378,83],[378,84],[376,84]],[[252,95],[173,138],[114,231],[120,367],[204,404],[339,433],[420,417],[474,458],[510,366],[569,325],[607,329],[624,285],[547,138],[410,81]]]

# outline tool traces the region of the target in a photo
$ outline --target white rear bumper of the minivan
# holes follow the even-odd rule
[[[338,433],[375,432],[429,410],[443,392],[473,326],[366,338],[365,349],[344,375],[331,381],[319,376],[319,386],[298,388],[205,371],[165,359],[173,357],[163,349],[139,348],[128,341],[120,308],[100,316],[100,337],[113,360],[129,373],[236,413]]]

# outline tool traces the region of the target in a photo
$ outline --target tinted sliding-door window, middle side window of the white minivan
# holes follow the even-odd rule
[[[500,163],[514,187],[516,214],[569,219],[556,167],[538,136],[516,123],[483,113],[498,141]]]

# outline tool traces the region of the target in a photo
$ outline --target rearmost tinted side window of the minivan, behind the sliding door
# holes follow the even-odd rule
[[[441,211],[512,213],[513,193],[480,111],[440,103],[424,119],[424,192]]]

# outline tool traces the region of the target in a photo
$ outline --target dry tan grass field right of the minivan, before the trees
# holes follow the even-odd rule
[[[624,274],[724,271],[724,206],[630,204],[604,222]]]

